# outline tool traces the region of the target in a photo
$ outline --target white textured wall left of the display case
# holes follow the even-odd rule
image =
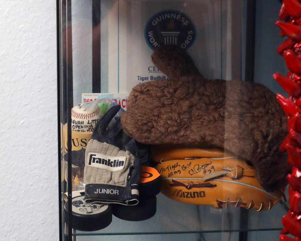
[[[58,240],[56,2],[0,3],[0,240]]]

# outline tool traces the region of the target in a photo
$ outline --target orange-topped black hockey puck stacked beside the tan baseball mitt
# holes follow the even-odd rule
[[[139,198],[147,199],[156,196],[161,191],[161,175],[152,167],[141,166]]]

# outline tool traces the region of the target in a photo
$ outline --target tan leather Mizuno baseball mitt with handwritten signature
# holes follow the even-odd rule
[[[284,188],[266,192],[252,165],[217,148],[152,147],[161,192],[179,202],[269,210]]]

